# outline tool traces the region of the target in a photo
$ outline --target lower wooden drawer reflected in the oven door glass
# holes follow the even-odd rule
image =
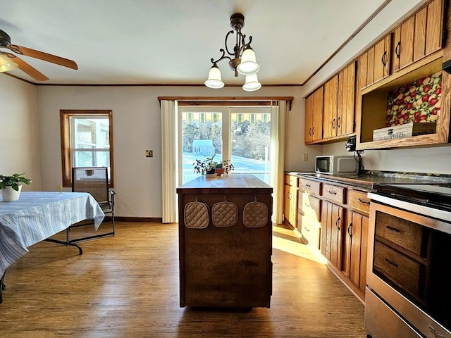
[[[373,268],[376,273],[384,275],[410,294],[421,298],[419,284],[420,280],[424,280],[424,276],[420,274],[425,269],[421,269],[420,263],[376,241]]]

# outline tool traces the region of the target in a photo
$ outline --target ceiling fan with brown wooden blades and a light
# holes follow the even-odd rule
[[[57,65],[63,65],[64,67],[68,67],[68,68],[72,68],[72,69],[78,69],[77,63],[75,63],[74,61],[69,60],[67,58],[61,58],[60,56],[47,54],[47,53],[44,53],[43,51],[36,51],[35,49],[30,49],[27,47],[18,46],[16,44],[11,44],[11,37],[9,37],[9,35],[6,34],[6,32],[4,32],[3,30],[0,30],[0,49],[1,48],[9,49],[10,51],[13,51],[14,53],[19,54],[19,55],[30,56],[32,58],[39,58],[39,60],[55,63]],[[6,51],[0,50],[0,58],[1,58],[1,61],[6,62],[5,68],[4,68],[5,70],[1,70],[1,71],[13,70],[13,69],[17,68],[17,66],[18,66],[18,68],[20,70],[22,70],[27,75],[30,75],[30,77],[32,77],[33,79],[35,79],[37,81],[49,80],[49,77],[45,76],[44,74],[39,72],[39,70],[37,70],[36,68],[33,68],[31,65],[29,65],[22,59],[18,58],[18,56],[16,56],[15,54],[11,54]],[[9,59],[9,63],[8,63],[8,59]],[[16,63],[17,66],[13,65],[13,63],[11,63],[11,61],[13,61],[13,63]]]

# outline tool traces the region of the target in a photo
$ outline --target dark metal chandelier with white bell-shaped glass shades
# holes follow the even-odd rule
[[[242,27],[245,26],[245,15],[235,13],[230,16],[230,26],[232,26],[233,30],[236,32],[233,53],[230,52],[227,44],[229,35],[233,34],[233,30],[230,30],[226,35],[226,48],[219,49],[223,55],[218,58],[218,60],[211,58],[211,63],[213,63],[213,65],[209,71],[209,78],[204,83],[206,87],[209,88],[219,89],[224,87],[224,82],[221,80],[221,70],[219,70],[216,63],[227,58],[229,60],[228,65],[230,66],[230,69],[235,72],[235,77],[237,77],[238,74],[246,76],[245,84],[243,84],[242,89],[245,89],[247,92],[253,92],[254,90],[261,88],[261,83],[257,79],[257,72],[259,71],[260,66],[256,62],[254,50],[251,48],[252,37],[249,36],[249,42],[245,43],[246,35],[241,32]],[[226,55],[226,52],[230,56]]]

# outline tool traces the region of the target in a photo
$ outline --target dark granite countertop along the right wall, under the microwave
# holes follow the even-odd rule
[[[311,180],[329,181],[334,184],[344,184],[352,189],[373,190],[373,184],[443,184],[451,183],[451,175],[400,173],[366,170],[362,175],[333,176],[317,173],[288,172],[290,175]]]

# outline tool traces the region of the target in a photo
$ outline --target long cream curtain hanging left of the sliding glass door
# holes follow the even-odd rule
[[[161,160],[163,223],[178,222],[178,144],[177,102],[161,100]]]

